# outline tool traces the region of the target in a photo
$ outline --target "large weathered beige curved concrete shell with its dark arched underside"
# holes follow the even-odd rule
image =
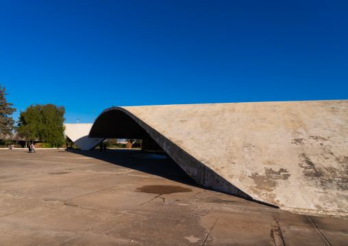
[[[89,136],[145,134],[203,186],[286,210],[347,215],[347,100],[115,107]]]

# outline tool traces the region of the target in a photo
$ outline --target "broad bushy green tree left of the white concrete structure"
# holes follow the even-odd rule
[[[31,105],[21,111],[18,121],[18,134],[29,139],[44,140],[53,147],[64,142],[64,106]]]

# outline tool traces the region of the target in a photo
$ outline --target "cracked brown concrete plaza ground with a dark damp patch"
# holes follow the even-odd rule
[[[346,245],[348,220],[191,183],[136,150],[0,152],[0,245]]]

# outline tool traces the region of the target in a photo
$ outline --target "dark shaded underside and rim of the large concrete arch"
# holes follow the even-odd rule
[[[181,167],[197,184],[230,195],[254,200],[233,184],[227,182],[221,175],[200,162],[190,153],[160,134],[156,129],[138,119],[137,116],[121,107],[105,109],[92,125],[89,137],[92,138],[146,138],[150,136],[166,153]],[[256,201],[268,206],[261,201]]]

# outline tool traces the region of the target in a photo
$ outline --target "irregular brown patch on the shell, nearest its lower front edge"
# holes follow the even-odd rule
[[[264,175],[259,175],[258,173],[253,173],[249,176],[253,179],[256,184],[256,189],[272,191],[276,186],[276,180],[287,180],[290,177],[290,173],[286,169],[279,169],[275,171],[273,169],[264,168]]]

